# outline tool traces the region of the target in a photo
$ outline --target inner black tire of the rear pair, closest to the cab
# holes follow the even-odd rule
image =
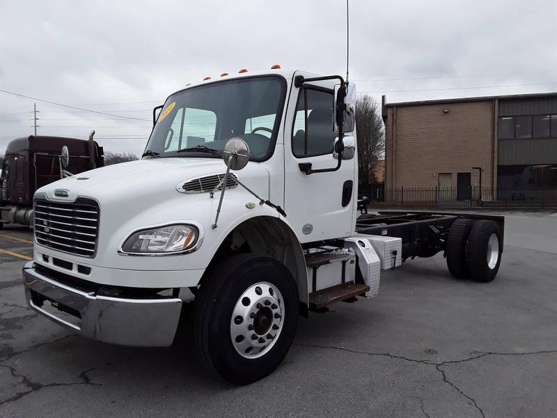
[[[447,267],[450,274],[457,279],[469,277],[468,265],[466,265],[466,239],[473,224],[472,219],[460,218],[455,220],[448,230],[445,247]]]

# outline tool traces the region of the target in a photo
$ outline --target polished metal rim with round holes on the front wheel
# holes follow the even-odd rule
[[[246,359],[265,355],[281,334],[284,302],[281,292],[267,281],[250,286],[237,300],[230,318],[230,339]]]

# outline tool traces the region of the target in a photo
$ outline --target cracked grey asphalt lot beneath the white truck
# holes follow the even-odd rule
[[[505,232],[492,283],[453,279],[441,254],[407,261],[372,300],[300,318],[283,364],[237,387],[185,337],[111,346],[33,314],[32,235],[4,228],[0,417],[555,417],[557,217],[512,214]]]

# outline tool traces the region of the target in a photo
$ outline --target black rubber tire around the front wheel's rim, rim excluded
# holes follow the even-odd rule
[[[278,288],[284,308],[280,334],[258,358],[240,355],[230,336],[233,310],[242,293],[266,281]],[[274,258],[240,254],[232,256],[204,279],[194,302],[194,341],[201,362],[236,385],[264,378],[281,364],[294,339],[298,324],[297,285],[292,274]]]

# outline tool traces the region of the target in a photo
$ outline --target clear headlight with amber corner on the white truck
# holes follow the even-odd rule
[[[120,252],[136,255],[180,254],[195,251],[199,245],[200,230],[196,226],[167,225],[132,233]]]

